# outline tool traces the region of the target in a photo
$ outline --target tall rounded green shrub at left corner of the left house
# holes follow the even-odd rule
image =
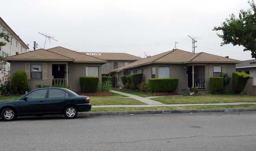
[[[27,75],[24,71],[16,71],[13,74],[11,85],[17,87],[18,91],[25,90],[28,86]]]

